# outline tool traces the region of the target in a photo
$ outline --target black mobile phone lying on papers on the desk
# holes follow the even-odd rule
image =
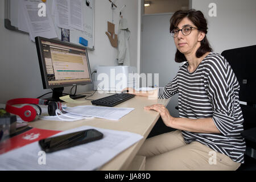
[[[65,148],[77,146],[88,142],[99,140],[103,137],[100,131],[95,129],[82,130],[75,133],[49,137],[39,140],[39,144],[45,152],[55,152]]]

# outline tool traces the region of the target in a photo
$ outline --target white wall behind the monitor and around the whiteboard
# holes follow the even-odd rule
[[[123,18],[127,18],[131,31],[130,59],[131,65],[137,67],[138,59],[138,3],[139,0],[118,0],[117,10],[114,10],[115,32],[118,30],[119,9]],[[0,1],[0,103],[11,98],[36,98],[50,92],[44,90],[40,76],[40,68],[35,43],[28,35],[7,30],[4,27],[4,1]],[[108,36],[108,21],[112,21],[112,10],[109,1],[95,0],[95,50],[89,51],[91,70],[96,65],[117,65],[115,61],[117,49],[110,45]],[[64,92],[69,92],[70,87]],[[78,86],[78,93],[92,89],[92,85]]]

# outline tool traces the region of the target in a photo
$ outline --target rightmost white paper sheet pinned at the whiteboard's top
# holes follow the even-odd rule
[[[69,26],[84,31],[84,19],[82,16],[82,1],[68,1]]]

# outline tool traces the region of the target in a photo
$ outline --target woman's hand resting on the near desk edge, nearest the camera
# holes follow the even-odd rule
[[[168,127],[171,127],[171,123],[174,120],[174,117],[171,116],[168,109],[166,109],[166,107],[164,105],[155,104],[155,105],[151,105],[151,106],[145,106],[144,109],[146,109],[146,110],[152,109],[152,110],[158,111],[158,113],[160,113],[160,116],[162,117],[164,124]]]

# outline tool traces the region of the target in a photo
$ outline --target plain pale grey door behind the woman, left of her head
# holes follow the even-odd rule
[[[142,32],[142,73],[159,73],[159,86],[164,87],[179,71],[174,61],[176,46],[171,37],[170,18],[172,14],[144,15]],[[152,79],[154,83],[154,78]],[[149,85],[148,85],[149,86]],[[173,117],[179,117],[175,109],[178,94],[171,98],[167,109]]]

